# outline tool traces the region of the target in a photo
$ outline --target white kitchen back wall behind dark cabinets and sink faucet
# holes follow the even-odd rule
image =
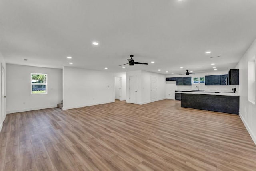
[[[230,68],[232,69],[232,68]],[[196,73],[191,75],[166,75],[166,77],[204,77],[205,75],[222,75],[227,74],[228,70],[224,71],[213,71],[213,72],[204,72],[204,73]],[[226,91],[232,92],[232,88],[238,88],[238,86],[234,85],[204,85],[204,83],[193,84],[191,86],[176,86],[176,81],[166,81],[166,98],[175,99],[175,90],[196,90],[196,86],[199,87],[199,90],[205,91]],[[237,89],[237,92],[239,90]]]

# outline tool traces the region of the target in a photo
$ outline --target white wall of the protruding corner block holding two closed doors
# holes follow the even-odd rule
[[[156,100],[166,98],[166,76],[148,71],[131,71],[126,74],[126,102],[129,103],[129,77],[138,76],[138,104],[151,102],[151,77],[156,77]]]

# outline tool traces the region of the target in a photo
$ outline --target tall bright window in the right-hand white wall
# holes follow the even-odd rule
[[[255,56],[248,61],[248,101],[255,104]]]

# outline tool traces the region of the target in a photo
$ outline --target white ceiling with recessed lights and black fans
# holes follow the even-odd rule
[[[0,0],[0,52],[12,64],[226,70],[255,38],[256,0]],[[149,65],[118,67],[130,54]]]

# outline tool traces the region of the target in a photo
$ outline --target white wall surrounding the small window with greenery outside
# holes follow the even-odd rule
[[[47,74],[47,94],[31,94],[30,74]],[[7,113],[57,107],[62,100],[62,69],[6,64]]]

